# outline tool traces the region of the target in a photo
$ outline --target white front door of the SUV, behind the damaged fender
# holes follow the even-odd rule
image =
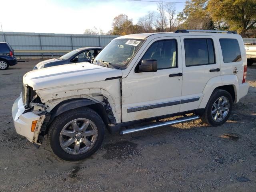
[[[179,37],[152,40],[122,79],[122,122],[180,112],[182,59]],[[156,72],[136,72],[143,59],[156,59]]]

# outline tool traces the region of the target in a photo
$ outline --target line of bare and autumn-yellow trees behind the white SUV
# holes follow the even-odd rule
[[[174,3],[158,2],[155,11],[138,19],[120,14],[112,30],[86,29],[84,34],[126,35],[173,32],[177,29],[235,30],[242,37],[256,38],[256,0],[188,0],[182,12]]]

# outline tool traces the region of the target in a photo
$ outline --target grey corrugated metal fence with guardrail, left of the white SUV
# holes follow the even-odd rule
[[[17,58],[51,58],[82,47],[104,47],[114,35],[0,32],[0,42],[8,42]]]

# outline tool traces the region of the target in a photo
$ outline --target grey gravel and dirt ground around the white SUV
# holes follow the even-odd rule
[[[14,129],[12,104],[37,62],[0,71],[0,192],[256,191],[256,64],[248,67],[248,95],[224,125],[196,120],[127,136],[107,133],[96,154],[66,162],[47,138],[36,149]]]

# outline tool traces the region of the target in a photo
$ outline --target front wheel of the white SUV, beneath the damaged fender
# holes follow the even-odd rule
[[[104,135],[102,118],[90,108],[77,108],[54,119],[49,128],[48,142],[59,158],[78,161],[94,154]]]

